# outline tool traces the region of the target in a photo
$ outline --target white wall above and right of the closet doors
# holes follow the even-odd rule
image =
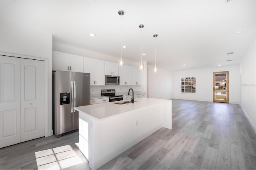
[[[48,59],[48,135],[52,135],[52,34],[5,22],[3,10],[0,8],[0,51]]]

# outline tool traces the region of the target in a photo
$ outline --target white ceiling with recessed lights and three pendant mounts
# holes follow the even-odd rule
[[[255,0],[1,0],[4,20],[44,29],[53,44],[120,57],[168,70],[239,64],[255,39]],[[3,18],[3,17],[2,17]],[[236,31],[242,33],[236,34]],[[90,37],[89,33],[95,33]],[[54,45],[53,45],[54,46]],[[227,55],[228,52],[234,52]],[[227,61],[232,59],[232,61]],[[183,66],[186,64],[186,66]]]

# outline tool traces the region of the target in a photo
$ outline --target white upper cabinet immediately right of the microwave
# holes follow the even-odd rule
[[[120,85],[130,86],[132,85],[132,67],[123,66],[119,67]]]

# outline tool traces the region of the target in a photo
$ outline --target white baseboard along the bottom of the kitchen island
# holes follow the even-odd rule
[[[128,143],[124,144],[122,147],[114,150],[113,152],[111,152],[110,154],[108,154],[107,156],[105,156],[104,158],[102,158],[101,160],[90,164],[90,168],[92,169],[98,169],[100,168],[102,165],[106,164],[107,162],[109,162],[110,160],[112,160],[113,158],[115,158],[116,156],[118,156],[119,154],[121,154],[122,152],[126,151],[127,149],[129,149],[130,147],[134,146],[136,143],[142,141],[143,139],[145,139],[146,137],[148,137],[149,135],[151,135],[152,133],[154,133],[155,131],[157,131],[158,129],[160,129],[162,127],[162,125],[158,125],[156,127],[154,127],[153,129],[150,129],[149,131],[147,131],[146,133],[144,133],[143,135],[141,135],[140,137],[129,141]]]

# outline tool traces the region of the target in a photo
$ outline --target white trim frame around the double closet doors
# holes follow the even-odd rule
[[[19,55],[19,54],[12,54],[12,53],[4,53],[4,52],[1,52],[0,51],[0,56],[7,56],[7,57],[18,57],[18,58],[22,58],[22,59],[32,59],[32,60],[40,60],[40,61],[44,61],[45,64],[44,64],[44,75],[45,75],[45,108],[44,108],[44,116],[45,116],[45,123],[44,123],[44,136],[45,137],[48,137],[48,59],[46,58],[42,58],[42,57],[33,57],[33,56],[28,56],[28,55]]]

